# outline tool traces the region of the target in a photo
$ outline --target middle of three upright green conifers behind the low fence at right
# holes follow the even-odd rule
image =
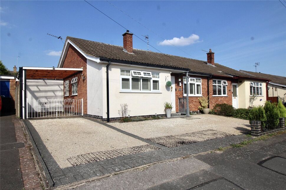
[[[269,129],[275,129],[279,124],[280,113],[275,104],[270,101],[266,101],[264,105],[266,114],[266,125]]]

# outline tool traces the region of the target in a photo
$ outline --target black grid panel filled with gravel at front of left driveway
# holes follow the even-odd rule
[[[133,147],[124,148],[124,149],[115,149],[115,150],[108,150],[108,151],[92,152],[88,154],[81,154],[78,156],[72,156],[68,158],[68,161],[73,166],[76,166],[80,164],[87,164],[87,163],[96,162],[100,160],[115,158],[118,156],[136,154],[140,152],[148,152],[148,151],[159,150],[159,149],[160,148],[156,146],[146,144],[142,146],[133,146]]]

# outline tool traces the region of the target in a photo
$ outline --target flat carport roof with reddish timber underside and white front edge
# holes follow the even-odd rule
[[[55,79],[62,80],[74,75],[83,69],[55,68],[55,67],[22,67],[25,70],[26,79]],[[21,73],[22,74],[22,73]]]

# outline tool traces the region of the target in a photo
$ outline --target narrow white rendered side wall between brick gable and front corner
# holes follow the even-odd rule
[[[103,102],[103,93],[106,91],[106,86],[103,86],[103,72],[105,68],[102,64],[96,61],[87,59],[87,114],[103,116],[103,105],[106,105],[106,100]],[[103,71],[104,69],[104,71]],[[106,112],[106,111],[105,111]],[[106,115],[106,114],[105,114]]]

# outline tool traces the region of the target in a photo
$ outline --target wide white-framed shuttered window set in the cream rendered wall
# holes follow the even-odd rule
[[[120,70],[120,91],[159,92],[159,73],[149,71]]]

